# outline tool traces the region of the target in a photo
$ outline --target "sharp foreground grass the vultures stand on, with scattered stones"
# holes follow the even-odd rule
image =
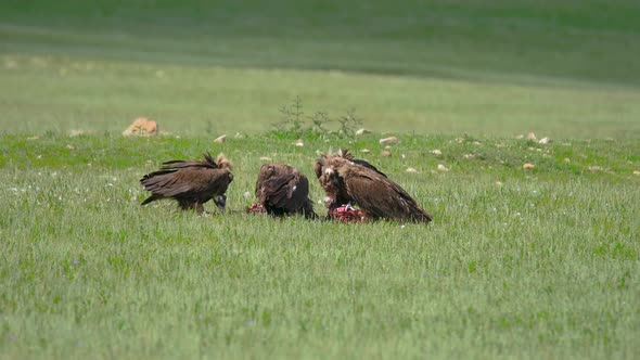
[[[260,156],[311,175],[315,150],[345,141],[217,145],[235,163],[230,213],[202,218],[170,203],[140,208],[137,180],[209,149],[206,138],[4,137],[0,283],[11,291],[0,298],[0,353],[638,355],[636,142],[404,137],[382,157],[376,139],[351,146],[372,149],[367,158],[434,223],[242,213]],[[524,162],[537,168],[524,171]],[[437,164],[451,171],[433,171]],[[315,181],[312,197],[321,197]]]

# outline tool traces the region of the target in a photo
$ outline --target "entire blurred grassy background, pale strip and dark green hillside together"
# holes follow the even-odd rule
[[[172,132],[259,132],[300,95],[379,131],[640,133],[632,1],[3,2],[0,14],[5,131],[118,131],[144,114]],[[322,69],[340,72],[308,72]]]

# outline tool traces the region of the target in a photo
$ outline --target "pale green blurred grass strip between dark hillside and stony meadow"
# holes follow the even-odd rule
[[[513,85],[349,73],[0,56],[2,131],[123,131],[136,117],[181,136],[260,133],[295,97],[355,110],[366,128],[417,133],[640,137],[640,88]]]

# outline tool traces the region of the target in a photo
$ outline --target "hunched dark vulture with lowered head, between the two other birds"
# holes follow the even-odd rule
[[[277,217],[296,214],[307,219],[317,217],[309,198],[309,180],[289,165],[264,164],[256,181],[256,197],[258,208]]]

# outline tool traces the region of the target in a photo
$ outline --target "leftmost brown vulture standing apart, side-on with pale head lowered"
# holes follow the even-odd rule
[[[195,209],[202,214],[203,204],[213,198],[220,211],[225,211],[225,192],[233,181],[231,164],[222,154],[214,160],[206,153],[204,159],[166,162],[159,170],[142,177],[140,183],[151,191],[151,196],[142,205],[161,198],[174,198],[181,209]]]

